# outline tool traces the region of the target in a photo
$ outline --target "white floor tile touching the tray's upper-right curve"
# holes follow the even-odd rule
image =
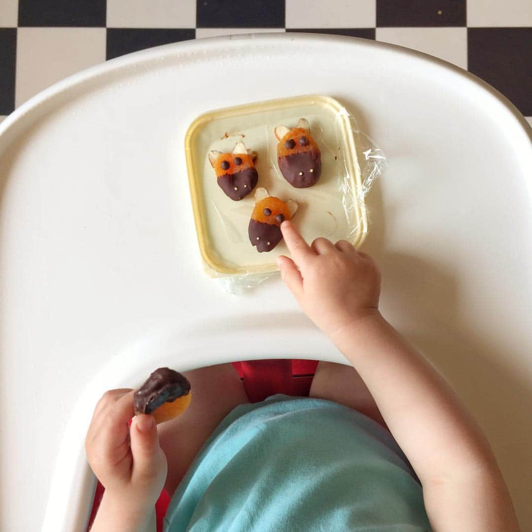
[[[467,69],[467,28],[377,28],[376,39],[425,52]]]

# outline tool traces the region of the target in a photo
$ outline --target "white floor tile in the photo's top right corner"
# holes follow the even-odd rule
[[[532,1],[467,0],[467,25],[470,28],[532,26]]]

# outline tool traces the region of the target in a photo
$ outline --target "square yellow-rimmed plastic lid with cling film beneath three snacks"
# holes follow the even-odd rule
[[[276,127],[288,131],[304,123],[302,118],[320,149],[322,171],[314,185],[296,188],[279,170]],[[185,148],[204,270],[232,294],[276,275],[277,256],[289,255],[282,240],[262,253],[250,242],[255,194],[260,199],[266,189],[282,202],[296,202],[292,221],[307,242],[323,236],[359,246],[369,230],[365,196],[386,167],[384,153],[359,130],[351,113],[335,99],[319,95],[205,113],[190,126]],[[258,182],[253,192],[234,201],[228,197],[232,190],[224,193],[219,186],[209,154],[244,149],[250,157],[253,153]]]

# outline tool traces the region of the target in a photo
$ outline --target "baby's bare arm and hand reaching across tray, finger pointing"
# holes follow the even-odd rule
[[[378,311],[380,275],[340,240],[308,246],[281,225],[281,276],[370,390],[423,486],[435,530],[519,530],[508,489],[475,420],[439,373]]]

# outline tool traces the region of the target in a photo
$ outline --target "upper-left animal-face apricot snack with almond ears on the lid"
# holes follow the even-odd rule
[[[237,142],[232,153],[215,149],[209,152],[218,185],[234,201],[242,200],[256,187],[259,173],[255,169],[255,160],[256,154],[249,153],[243,142]]]

